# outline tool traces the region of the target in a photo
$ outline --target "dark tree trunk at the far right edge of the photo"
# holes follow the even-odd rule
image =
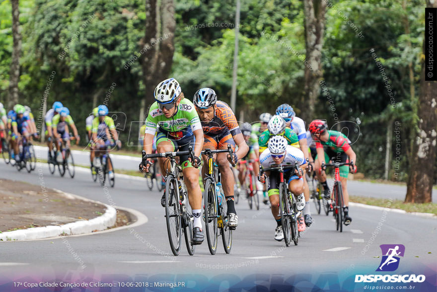
[[[437,7],[437,1],[427,0],[427,7]],[[425,52],[424,39],[423,52]],[[419,122],[408,176],[405,202],[427,203],[432,201],[434,163],[436,161],[437,136],[437,81],[425,81],[425,61],[422,61],[420,94],[417,114]]]

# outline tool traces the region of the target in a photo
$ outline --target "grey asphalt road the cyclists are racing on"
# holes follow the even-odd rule
[[[118,206],[146,214],[148,222],[130,230],[87,236],[2,242],[0,280],[28,279],[28,275],[34,279],[109,277],[123,281],[141,280],[150,275],[154,275],[154,279],[175,279],[172,276],[175,274],[182,278],[197,275],[198,281],[208,281],[205,277],[215,275],[241,279],[255,273],[273,277],[275,273],[300,275],[335,271],[341,275],[358,273],[368,267],[374,271],[380,262],[379,245],[394,243],[406,247],[408,256],[402,259],[403,264],[437,268],[436,219],[350,207],[353,222],[339,233],[332,216],[315,214],[311,204],[313,225],[299,239],[298,246],[286,248],[283,242],[273,238],[276,222],[270,208],[263,205],[259,211],[250,210],[245,200],[236,205],[239,225],[229,255],[219,248],[217,254],[211,256],[205,241],[196,247],[195,256],[189,256],[183,245],[181,255],[174,257],[168,244],[164,209],[159,204],[160,194],[146,190],[141,178],[116,175],[115,188],[106,191],[92,182],[87,170],[76,171],[74,179],[70,179],[61,178],[58,173],[51,175],[46,164],[28,174],[18,173],[0,162],[0,178],[4,179],[38,185],[39,171],[47,187],[104,203],[112,200]],[[78,258],[84,264],[79,264]],[[81,265],[86,267],[82,269]]]

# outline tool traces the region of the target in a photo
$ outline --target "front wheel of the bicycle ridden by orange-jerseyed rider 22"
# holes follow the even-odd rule
[[[218,241],[218,208],[215,184],[211,178],[205,180],[204,208],[205,232],[207,234],[208,249],[212,255],[215,255],[217,252]]]

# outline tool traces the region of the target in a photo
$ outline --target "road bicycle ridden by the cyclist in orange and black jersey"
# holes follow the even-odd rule
[[[221,175],[218,171],[218,165],[214,162],[214,155],[224,152],[233,157],[230,145],[227,146],[227,149],[205,149],[202,151],[202,154],[208,157],[208,174],[205,176],[204,182],[204,220],[208,249],[212,255],[217,252],[219,235],[221,235],[224,252],[228,254],[232,248],[232,228],[228,225],[227,204],[221,187]]]

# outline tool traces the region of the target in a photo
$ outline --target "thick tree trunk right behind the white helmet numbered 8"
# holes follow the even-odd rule
[[[138,56],[146,86],[146,108],[154,102],[153,91],[159,82],[168,78],[173,63],[174,11],[173,0],[161,0],[159,6],[157,0],[146,0],[146,35],[140,42],[142,51]]]

